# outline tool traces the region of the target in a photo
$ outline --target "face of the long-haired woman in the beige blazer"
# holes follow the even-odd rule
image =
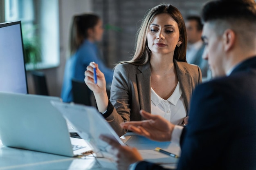
[[[151,54],[174,53],[179,40],[180,33],[177,22],[167,13],[155,15],[149,26],[147,40]]]

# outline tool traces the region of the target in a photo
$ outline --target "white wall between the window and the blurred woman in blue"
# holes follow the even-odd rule
[[[63,73],[67,57],[67,47],[70,32],[70,23],[72,16],[78,13],[90,11],[91,0],[58,0],[59,4],[59,37],[60,37],[60,65],[56,68],[41,70],[45,73],[47,78],[47,86],[49,95],[61,95]],[[27,73],[29,93],[34,94],[34,84],[32,82],[31,74]]]

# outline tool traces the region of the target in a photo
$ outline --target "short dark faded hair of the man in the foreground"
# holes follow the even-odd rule
[[[214,26],[218,36],[226,29],[237,33],[243,48],[255,48],[256,2],[254,0],[214,0],[204,5],[202,21]]]

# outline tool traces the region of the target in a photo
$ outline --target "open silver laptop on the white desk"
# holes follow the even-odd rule
[[[68,157],[91,152],[83,139],[70,138],[66,120],[50,101],[61,99],[0,92],[2,144]]]

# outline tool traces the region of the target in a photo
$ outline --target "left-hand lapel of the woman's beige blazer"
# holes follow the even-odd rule
[[[140,109],[151,113],[151,70],[149,62],[143,66],[139,66],[138,69],[141,71],[141,73],[136,74]]]

